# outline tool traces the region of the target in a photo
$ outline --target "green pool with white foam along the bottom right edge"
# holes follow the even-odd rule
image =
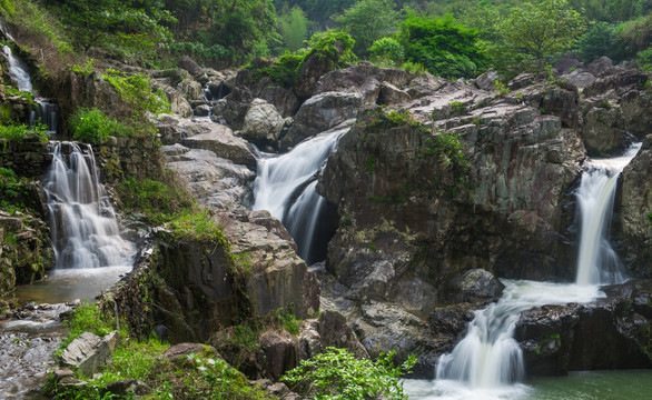
[[[646,400],[652,399],[652,370],[571,372],[492,389],[406,380],[405,390],[409,400]]]

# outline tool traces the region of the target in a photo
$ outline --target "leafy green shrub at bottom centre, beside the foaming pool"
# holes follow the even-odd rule
[[[407,399],[401,376],[409,372],[416,358],[411,356],[402,366],[394,367],[394,351],[381,353],[375,361],[357,360],[346,349],[329,347],[313,359],[302,361],[281,380],[315,399]]]

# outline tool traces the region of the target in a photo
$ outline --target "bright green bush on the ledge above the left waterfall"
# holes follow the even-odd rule
[[[79,109],[68,119],[70,131],[75,140],[99,144],[110,136],[134,137],[131,127],[107,117],[98,109]]]

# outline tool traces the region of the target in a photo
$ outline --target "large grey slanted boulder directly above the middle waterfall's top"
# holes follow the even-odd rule
[[[362,102],[362,94],[353,92],[325,92],[312,97],[299,108],[295,123],[281,143],[286,147],[297,144],[354,118]]]

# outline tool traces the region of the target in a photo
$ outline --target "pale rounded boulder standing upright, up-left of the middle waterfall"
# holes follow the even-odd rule
[[[250,142],[265,147],[278,140],[285,124],[276,108],[265,100],[254,99],[245,116],[240,136]]]

